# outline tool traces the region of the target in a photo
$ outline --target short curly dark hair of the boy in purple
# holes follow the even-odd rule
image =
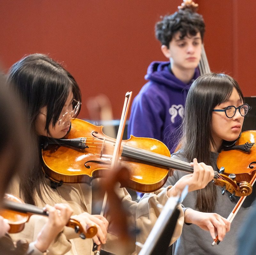
[[[172,15],[166,15],[155,25],[156,38],[169,47],[175,33],[180,32],[180,39],[190,34],[195,36],[198,32],[203,40],[205,33],[205,22],[202,15],[189,9],[176,11]]]

